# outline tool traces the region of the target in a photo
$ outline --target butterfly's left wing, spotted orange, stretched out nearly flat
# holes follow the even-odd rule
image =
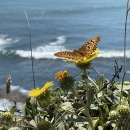
[[[63,57],[63,58],[68,58],[72,60],[83,58],[83,56],[80,53],[78,53],[77,50],[73,50],[72,52],[69,52],[69,51],[57,52],[54,55],[57,57]]]

